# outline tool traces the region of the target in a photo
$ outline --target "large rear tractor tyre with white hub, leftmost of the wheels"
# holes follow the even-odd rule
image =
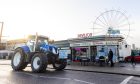
[[[23,49],[22,48],[15,49],[15,52],[11,59],[11,66],[13,70],[20,71],[25,69],[25,67],[28,64],[27,62],[25,62],[25,60],[26,60],[26,54],[23,51]]]

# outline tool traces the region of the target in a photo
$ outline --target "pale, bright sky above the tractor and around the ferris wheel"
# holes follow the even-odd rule
[[[8,39],[38,32],[63,40],[92,33],[93,22],[101,13],[118,10],[130,22],[128,43],[140,47],[139,4],[139,0],[0,0],[0,21]]]

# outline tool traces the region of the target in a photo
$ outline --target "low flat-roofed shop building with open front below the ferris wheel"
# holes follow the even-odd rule
[[[107,57],[111,49],[113,60],[118,62],[120,58],[131,54],[131,47],[122,36],[119,35],[100,35],[87,38],[73,38],[68,40],[56,41],[54,45],[60,49],[70,50],[71,60],[78,60],[87,57],[90,60],[98,60],[100,56]]]

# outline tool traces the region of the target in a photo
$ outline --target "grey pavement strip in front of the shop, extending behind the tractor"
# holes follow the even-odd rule
[[[10,65],[11,60],[0,60],[0,65]],[[115,63],[114,67],[99,66],[99,64],[90,63],[89,65],[81,65],[79,62],[67,65],[65,70],[97,72],[119,75],[130,75],[140,77],[140,63],[133,66],[131,63]]]

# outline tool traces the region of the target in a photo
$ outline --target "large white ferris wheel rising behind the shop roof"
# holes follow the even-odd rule
[[[130,23],[125,13],[109,10],[101,13],[93,23],[93,35],[121,35],[125,39],[129,36]]]

